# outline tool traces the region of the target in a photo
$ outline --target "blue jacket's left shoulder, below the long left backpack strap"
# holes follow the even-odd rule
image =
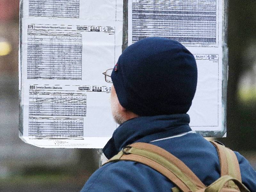
[[[147,165],[118,161],[108,163],[94,172],[81,192],[153,192],[169,191],[172,187],[173,184],[166,177]]]

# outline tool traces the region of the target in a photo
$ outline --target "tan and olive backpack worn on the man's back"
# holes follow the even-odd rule
[[[187,165],[168,151],[149,143],[124,147],[105,164],[121,160],[135,161],[155,169],[177,187],[172,192],[250,192],[243,184],[235,153],[218,141],[212,141],[220,159],[220,178],[206,187]]]

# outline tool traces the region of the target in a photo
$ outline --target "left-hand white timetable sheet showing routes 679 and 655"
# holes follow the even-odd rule
[[[102,72],[122,52],[123,2],[24,0],[20,138],[42,148],[103,148],[117,127]]]

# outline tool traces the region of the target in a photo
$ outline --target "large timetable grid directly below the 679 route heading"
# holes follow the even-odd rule
[[[28,33],[28,79],[82,80],[82,36]]]

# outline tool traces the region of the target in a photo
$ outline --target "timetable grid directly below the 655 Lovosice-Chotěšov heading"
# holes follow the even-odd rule
[[[29,93],[29,116],[86,116],[86,94]]]

